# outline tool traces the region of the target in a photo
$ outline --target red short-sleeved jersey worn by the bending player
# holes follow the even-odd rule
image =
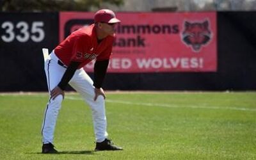
[[[113,42],[114,36],[107,36],[98,44],[96,28],[92,24],[74,31],[54,49],[54,52],[66,66],[70,61],[79,61],[81,64],[78,68],[82,68],[94,59],[109,60]]]

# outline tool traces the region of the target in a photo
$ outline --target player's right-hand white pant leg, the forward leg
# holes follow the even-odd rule
[[[108,137],[107,120],[105,113],[105,100],[100,95],[97,100],[93,100],[95,96],[92,79],[84,72],[83,69],[77,70],[69,83],[92,109],[93,127],[97,142],[104,141]]]

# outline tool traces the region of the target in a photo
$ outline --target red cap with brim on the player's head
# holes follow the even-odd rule
[[[95,13],[94,22],[118,23],[121,21],[119,19],[116,19],[116,15],[113,11],[104,9],[99,10]]]

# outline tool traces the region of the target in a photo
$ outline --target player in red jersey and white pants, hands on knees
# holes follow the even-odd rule
[[[45,60],[45,74],[51,97],[42,124],[42,153],[58,153],[52,143],[58,112],[68,83],[92,109],[95,150],[122,150],[108,139],[104,102],[106,95],[101,88],[118,22],[120,20],[116,19],[113,11],[99,10],[94,15],[94,24],[74,31]],[[96,60],[93,81],[83,70],[84,65],[92,60]]]

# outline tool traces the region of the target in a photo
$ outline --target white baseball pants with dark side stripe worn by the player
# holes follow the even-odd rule
[[[51,90],[60,83],[63,74],[67,68],[58,64],[58,57],[54,51],[45,58],[45,74],[47,77],[47,85],[49,93]],[[104,141],[108,137],[106,131],[107,122],[105,114],[105,101],[104,97],[100,95],[96,101],[93,100],[95,96],[94,86],[92,79],[86,74],[83,68],[76,70],[72,79],[69,82],[70,86],[74,88],[83,97],[85,102],[88,103],[92,109],[93,127],[95,138],[97,142]],[[62,95],[58,95],[54,100],[50,99],[47,103],[44,113],[44,121],[42,124],[42,142],[53,143],[54,129],[59,110],[61,108]]]

